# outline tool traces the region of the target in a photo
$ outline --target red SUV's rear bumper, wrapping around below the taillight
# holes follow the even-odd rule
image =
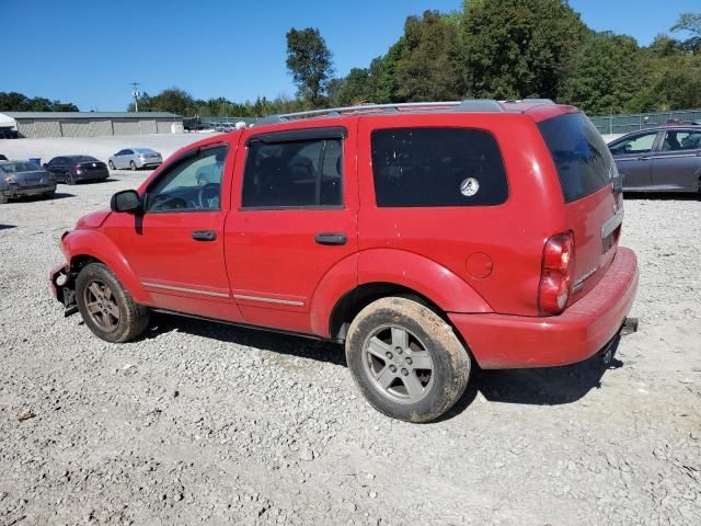
[[[560,316],[448,316],[484,369],[568,365],[596,354],[616,336],[633,306],[637,282],[635,253],[619,248],[596,287]]]

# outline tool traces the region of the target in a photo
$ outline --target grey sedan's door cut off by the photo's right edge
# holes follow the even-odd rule
[[[653,156],[653,185],[657,190],[697,191],[701,176],[701,129],[665,132]]]

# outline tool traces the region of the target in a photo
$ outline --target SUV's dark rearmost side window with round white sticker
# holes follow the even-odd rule
[[[508,197],[502,155],[487,132],[378,129],[371,141],[378,207],[490,206]]]

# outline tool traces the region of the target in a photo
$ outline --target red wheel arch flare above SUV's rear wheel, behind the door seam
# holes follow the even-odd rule
[[[411,288],[445,312],[493,312],[484,298],[460,276],[414,252],[398,249],[360,252],[358,285],[375,282]]]

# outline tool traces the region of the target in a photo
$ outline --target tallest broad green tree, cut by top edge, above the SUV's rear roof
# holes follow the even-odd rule
[[[588,33],[563,0],[466,0],[463,90],[478,98],[556,99]]]

